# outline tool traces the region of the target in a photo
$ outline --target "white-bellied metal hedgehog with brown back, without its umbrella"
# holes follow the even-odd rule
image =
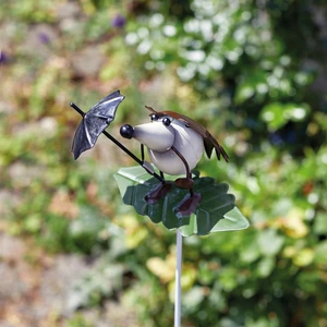
[[[141,143],[143,167],[153,173],[148,162],[144,160],[144,146],[148,149],[152,162],[160,170],[162,182],[147,193],[145,201],[156,204],[171,189],[171,183],[165,181],[164,173],[179,175],[174,184],[190,193],[178,205],[177,211],[189,216],[195,211],[201,202],[201,195],[193,191],[191,170],[195,168],[205,149],[210,158],[215,148],[216,155],[228,161],[229,157],[216,138],[201,124],[191,118],[173,111],[156,111],[152,107],[149,114],[152,122],[132,126],[122,125],[120,134],[125,138],[135,138]]]

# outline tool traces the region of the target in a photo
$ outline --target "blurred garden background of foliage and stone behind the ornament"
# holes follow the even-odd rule
[[[184,240],[183,326],[327,326],[325,1],[2,0],[0,51],[1,326],[173,324],[174,233],[113,179],[134,164],[70,153],[69,104],[116,89],[119,140],[145,105],[217,136],[230,162],[198,170],[251,222]]]

